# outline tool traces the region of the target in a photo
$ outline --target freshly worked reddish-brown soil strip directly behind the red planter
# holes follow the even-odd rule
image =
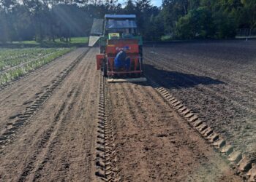
[[[240,181],[147,84],[108,84],[122,181]]]

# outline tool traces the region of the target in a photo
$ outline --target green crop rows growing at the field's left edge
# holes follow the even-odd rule
[[[0,86],[29,73],[35,68],[50,63],[50,61],[71,50],[72,48],[0,50]]]

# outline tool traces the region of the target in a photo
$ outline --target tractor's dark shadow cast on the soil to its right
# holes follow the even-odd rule
[[[148,64],[144,64],[143,67],[146,76],[153,78],[167,89],[195,87],[198,84],[225,84],[225,82],[221,82],[218,79],[211,79],[210,77],[206,76],[196,76],[194,74],[184,74],[176,71],[166,71]]]

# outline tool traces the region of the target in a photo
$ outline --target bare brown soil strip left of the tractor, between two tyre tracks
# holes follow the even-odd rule
[[[3,179],[88,181],[91,178],[94,99],[99,78],[94,56],[95,50],[91,50],[34,116],[34,122],[20,131],[23,133],[20,140],[7,147],[11,152],[2,157],[4,162],[0,166]],[[37,140],[30,139],[31,136]]]

